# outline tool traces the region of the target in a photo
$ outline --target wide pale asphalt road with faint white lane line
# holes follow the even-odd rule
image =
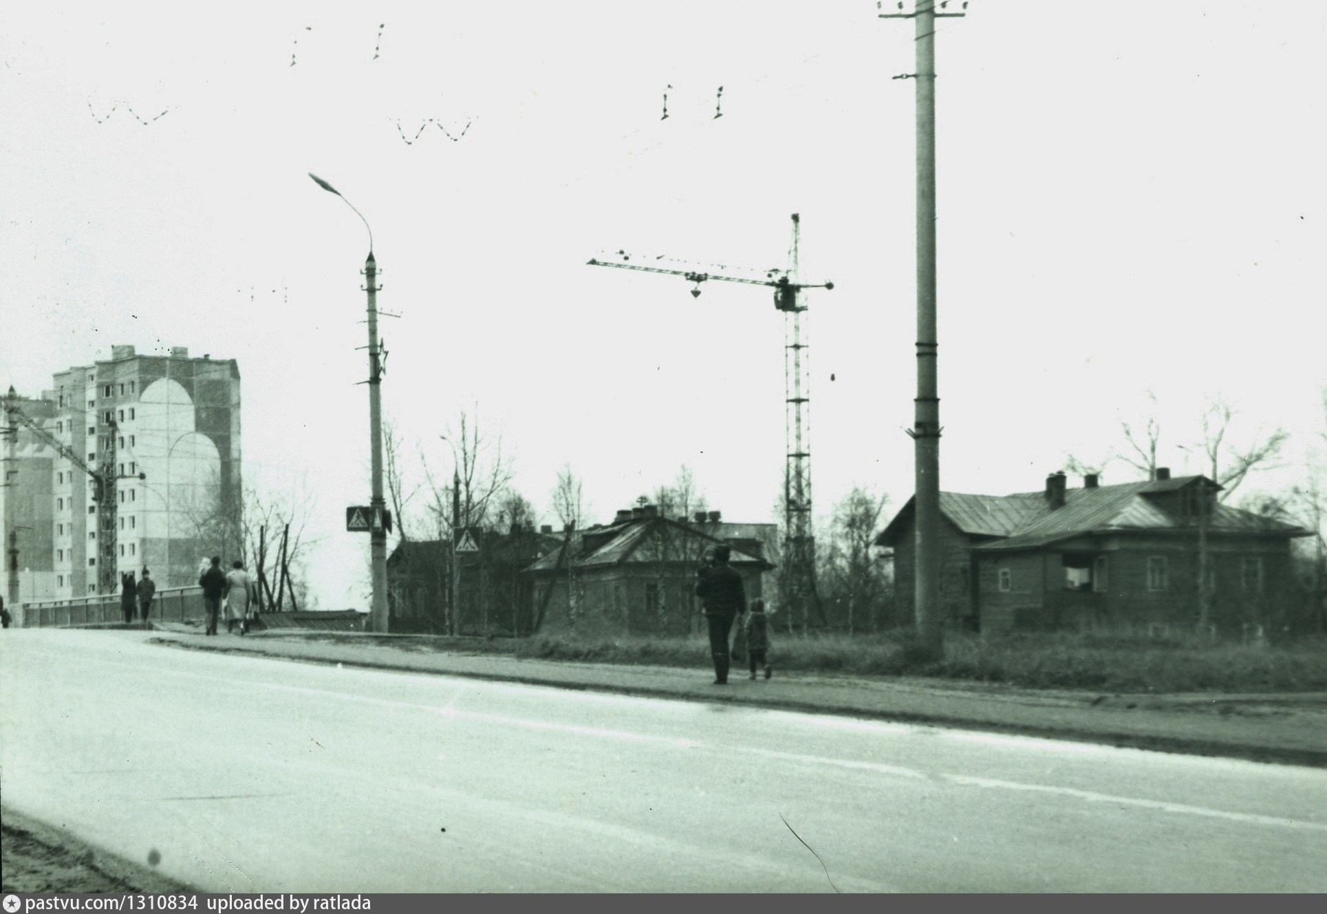
[[[1320,769],[149,638],[0,637],[0,800],[203,890],[1327,890]]]

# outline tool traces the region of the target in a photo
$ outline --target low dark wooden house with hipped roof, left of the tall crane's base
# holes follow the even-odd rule
[[[573,535],[565,549],[559,545],[527,569],[539,630],[584,635],[697,631],[701,605],[694,588],[702,555],[729,543],[730,564],[742,573],[747,600],[760,597],[763,573],[774,568],[763,557],[770,536],[764,527],[774,525],[723,525],[718,512],[686,523],[660,516],[656,505],[618,511],[612,524]],[[734,533],[733,541],[717,535],[722,532]]]

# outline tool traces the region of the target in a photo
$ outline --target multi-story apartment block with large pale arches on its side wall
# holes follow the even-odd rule
[[[239,553],[235,359],[113,346],[107,361],[56,374],[44,399],[42,426],[68,450],[48,464],[52,581],[37,598],[111,592],[143,568],[158,588],[186,586],[200,558]]]

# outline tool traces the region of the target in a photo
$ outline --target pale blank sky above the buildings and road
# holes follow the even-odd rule
[[[421,455],[450,476],[439,435],[466,410],[544,523],[565,464],[591,520],[686,464],[726,520],[770,521],[768,291],[693,298],[585,261],[763,272],[798,212],[803,277],[835,283],[807,297],[817,515],[855,486],[906,501],[910,21],[860,1],[215,9],[0,9],[0,386],[36,394],[113,344],[238,359],[245,480],[307,496],[318,602],[365,608],[344,508],[369,493],[368,237],[312,171],[373,227],[407,483]],[[1149,413],[1160,462],[1197,472],[1178,446],[1213,397],[1235,442],[1291,432],[1243,488],[1292,486],[1327,422],[1327,5],[967,13],[936,41],[941,487],[1040,488]]]

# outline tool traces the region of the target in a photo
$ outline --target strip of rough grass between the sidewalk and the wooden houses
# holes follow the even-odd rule
[[[622,637],[577,639],[403,638],[415,650],[504,654],[594,663],[649,663],[705,667],[709,645],[690,638]],[[1028,633],[982,638],[950,633],[945,657],[922,657],[906,633],[821,634],[772,639],[771,662],[779,670],[868,677],[937,677],[998,682],[1032,688],[1084,688],[1107,692],[1269,692],[1327,691],[1327,639],[1306,637],[1285,645],[1202,642],[1197,638],[1149,639],[1137,635]]]

